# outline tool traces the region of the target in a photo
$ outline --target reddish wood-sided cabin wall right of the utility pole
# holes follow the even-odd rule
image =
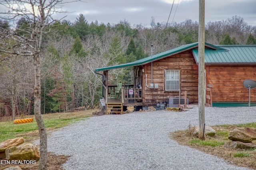
[[[256,80],[256,66],[206,66],[206,82],[212,84],[212,102],[248,102],[246,79]],[[251,102],[256,102],[256,88],[250,90]]]

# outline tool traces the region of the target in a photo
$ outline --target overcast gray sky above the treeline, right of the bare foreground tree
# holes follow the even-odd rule
[[[66,4],[66,20],[74,22],[80,13],[86,20],[102,23],[119,23],[127,20],[131,25],[150,25],[151,17],[155,22],[166,22],[173,0],[84,0],[86,3]],[[179,2],[179,4],[178,4]],[[186,19],[198,21],[199,0],[174,0],[174,6],[168,23],[180,23]],[[178,5],[178,8],[177,8]],[[176,10],[177,9],[177,10]],[[176,12],[176,13],[175,13]],[[175,16],[174,16],[175,14]],[[205,22],[220,21],[240,16],[249,25],[256,26],[256,0],[205,0]],[[58,16],[57,18],[60,18]]]

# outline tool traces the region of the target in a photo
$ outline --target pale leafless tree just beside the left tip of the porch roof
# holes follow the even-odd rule
[[[102,66],[107,66],[107,64],[111,61],[110,58],[104,57],[104,54],[108,51],[108,37],[109,33],[104,35],[102,41],[98,36],[90,36],[87,38],[87,41],[84,42],[83,46],[87,50],[87,55],[85,58],[81,58],[78,60],[77,65],[77,75],[78,79],[83,80],[82,84],[80,82],[80,88],[84,86],[84,102],[85,106],[89,106],[93,108],[94,99],[99,97],[100,92],[97,89],[101,86],[100,79],[96,77],[96,75],[92,72],[95,68],[99,68]],[[90,46],[90,44],[92,44]],[[85,83],[84,83],[85,82]],[[88,97],[87,97],[88,96]],[[85,109],[86,109],[85,107]]]

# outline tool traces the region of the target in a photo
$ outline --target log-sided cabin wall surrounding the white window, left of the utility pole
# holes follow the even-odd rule
[[[158,89],[146,87],[146,74],[148,86],[151,83],[151,63],[143,65],[143,69],[143,106],[156,106],[160,102],[167,104],[168,98],[179,96],[179,91],[165,90],[165,70],[180,70],[181,92],[187,91],[190,103],[198,103],[198,66],[191,50],[153,62],[152,81],[158,84]]]

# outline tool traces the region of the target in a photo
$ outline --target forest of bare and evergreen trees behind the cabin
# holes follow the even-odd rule
[[[1,30],[28,34],[26,18],[15,27],[0,20]],[[256,44],[256,26],[248,25],[240,16],[205,25],[205,41],[217,44]],[[56,21],[47,27],[42,41],[41,90],[42,113],[74,111],[78,107],[94,108],[102,97],[102,76],[95,68],[129,63],[180,45],[198,42],[198,22],[155,23],[150,26],[130,25],[126,20],[116,24],[93,21],[83,14],[76,21]],[[0,40],[3,41],[3,40]],[[7,41],[7,40],[5,40]],[[8,40],[15,41],[15,39]],[[0,117],[33,114],[34,70],[31,57],[0,53]],[[8,59],[6,59],[8,58]],[[132,84],[132,68],[111,70],[112,84]]]

